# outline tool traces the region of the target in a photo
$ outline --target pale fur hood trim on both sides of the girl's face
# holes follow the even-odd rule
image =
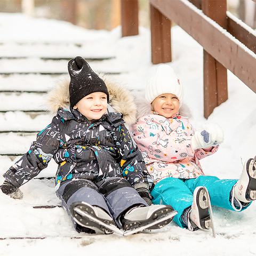
[[[151,104],[148,103],[148,101],[145,99],[145,97],[143,97],[143,95],[141,95],[141,94],[135,95],[134,94],[134,102],[135,102],[135,106],[137,108],[136,119],[138,119],[142,116],[152,114]],[[192,117],[189,107],[184,103],[182,103],[182,105],[179,109],[179,114],[188,119]]]

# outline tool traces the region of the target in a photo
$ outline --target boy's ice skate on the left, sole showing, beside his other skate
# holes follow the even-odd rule
[[[123,235],[123,231],[117,228],[113,218],[100,207],[85,202],[76,202],[70,205],[70,213],[74,220],[83,227],[104,234]]]

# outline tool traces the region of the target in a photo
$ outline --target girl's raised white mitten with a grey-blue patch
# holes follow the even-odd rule
[[[204,124],[191,138],[191,146],[194,150],[197,148],[207,148],[216,146],[222,143],[223,140],[223,131],[218,124]]]

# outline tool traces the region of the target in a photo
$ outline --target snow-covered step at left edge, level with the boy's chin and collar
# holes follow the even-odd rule
[[[0,113],[0,120],[0,133],[39,132],[51,123],[52,116],[40,112],[7,111]]]

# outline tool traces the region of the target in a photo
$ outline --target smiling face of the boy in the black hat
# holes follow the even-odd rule
[[[78,109],[89,121],[100,119],[107,111],[107,94],[94,92],[79,100],[74,109]]]

